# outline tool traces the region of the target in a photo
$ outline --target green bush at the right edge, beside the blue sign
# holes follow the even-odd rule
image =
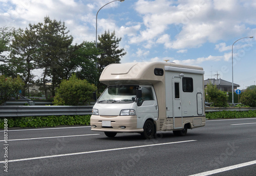
[[[244,105],[256,107],[256,86],[247,87],[244,93],[241,94],[240,101]]]

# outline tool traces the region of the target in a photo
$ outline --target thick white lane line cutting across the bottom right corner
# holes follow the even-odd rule
[[[206,175],[220,173],[220,172],[224,172],[224,171],[228,171],[228,170],[232,170],[232,169],[237,169],[237,168],[240,168],[240,167],[249,166],[249,165],[252,165],[252,164],[256,164],[256,160],[246,162],[246,163],[237,164],[237,165],[233,165],[233,166],[223,167],[223,168],[220,168],[220,169],[210,170],[210,171],[206,171],[206,172],[202,172],[202,173],[197,173],[197,174],[189,175],[189,176],[206,176]]]

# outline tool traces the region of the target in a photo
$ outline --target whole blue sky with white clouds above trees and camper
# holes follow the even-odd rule
[[[96,13],[109,0],[0,0],[0,26],[25,29],[45,16],[65,21],[74,43],[95,41]],[[256,81],[256,0],[125,0],[98,13],[98,34],[121,37],[121,62],[163,61],[198,65],[204,78]]]

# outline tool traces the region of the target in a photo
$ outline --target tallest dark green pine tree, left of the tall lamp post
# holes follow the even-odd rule
[[[43,84],[46,88],[47,77],[51,78],[52,95],[55,95],[55,88],[63,77],[63,65],[68,59],[68,49],[71,46],[73,37],[68,35],[64,22],[51,20],[45,17],[44,23],[31,25],[38,35],[39,47],[36,53],[38,67],[44,69]],[[46,97],[47,91],[45,91]]]

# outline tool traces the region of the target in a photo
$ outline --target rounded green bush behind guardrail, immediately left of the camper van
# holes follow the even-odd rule
[[[84,105],[92,100],[96,86],[87,80],[72,75],[69,80],[62,80],[54,97],[54,105]]]

